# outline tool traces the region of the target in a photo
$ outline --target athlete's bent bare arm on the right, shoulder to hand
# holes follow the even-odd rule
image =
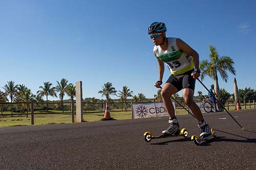
[[[191,48],[187,43],[182,41],[180,38],[177,38],[176,43],[177,43],[179,50],[181,50],[182,52],[193,57],[195,68],[198,69],[199,68],[199,54],[193,48]],[[193,75],[193,78],[197,79],[199,76],[200,76],[199,73],[195,72]]]

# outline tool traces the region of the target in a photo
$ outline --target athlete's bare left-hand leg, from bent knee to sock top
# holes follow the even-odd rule
[[[163,103],[169,118],[175,117],[175,110],[174,110],[172,100],[170,100],[170,97],[177,92],[178,92],[178,89],[173,84],[170,84],[170,83],[165,83],[161,91]]]

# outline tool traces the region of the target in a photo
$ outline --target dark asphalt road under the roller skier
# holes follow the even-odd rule
[[[256,169],[256,110],[204,114],[217,137],[198,146],[159,134],[167,117],[0,128],[0,169]],[[190,115],[178,116],[189,137],[199,134]]]

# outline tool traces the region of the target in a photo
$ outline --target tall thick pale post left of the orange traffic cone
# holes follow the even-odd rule
[[[82,82],[76,82],[76,122],[81,123],[82,117]]]

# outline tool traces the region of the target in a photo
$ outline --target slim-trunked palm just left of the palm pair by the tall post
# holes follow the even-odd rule
[[[44,86],[40,86],[39,88],[41,90],[38,90],[36,93],[41,95],[41,96],[45,96],[46,95],[46,103],[47,103],[47,112],[48,112],[48,96],[53,96],[53,97],[57,97],[56,94],[56,87],[51,87],[52,83],[50,82],[44,82]]]

